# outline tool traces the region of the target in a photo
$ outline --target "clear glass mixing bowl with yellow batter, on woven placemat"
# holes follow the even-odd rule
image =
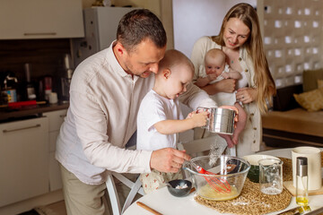
[[[249,163],[244,159],[225,155],[222,155],[216,162],[210,162],[210,160],[210,156],[202,156],[191,159],[190,162],[183,165],[183,168],[188,170],[192,178],[196,193],[212,201],[225,201],[238,197],[250,168]],[[206,171],[217,174],[201,174],[194,166],[203,167]],[[230,192],[215,191],[205,177],[215,182],[227,182],[230,185]]]

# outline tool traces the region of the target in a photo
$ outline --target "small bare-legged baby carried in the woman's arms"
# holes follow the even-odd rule
[[[223,79],[237,79],[239,80],[242,76],[241,73],[229,68],[228,64],[225,64],[226,56],[221,49],[213,48],[205,54],[205,65],[199,68],[198,78],[196,80],[196,86],[205,87],[207,84],[219,82]],[[232,136],[227,134],[219,134],[227,142],[229,147],[238,144],[239,134],[243,131],[247,114],[241,105],[238,103],[235,93],[219,92],[211,96],[215,102],[222,107],[234,106],[238,109],[239,121],[237,122],[236,128]],[[230,107],[229,107],[230,108]]]

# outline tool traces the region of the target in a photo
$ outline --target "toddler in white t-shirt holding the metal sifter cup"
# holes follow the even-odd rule
[[[192,82],[194,65],[187,56],[177,50],[168,50],[159,64],[153,90],[150,90],[140,104],[137,116],[137,150],[159,150],[176,148],[179,133],[204,126],[207,113],[188,114],[183,118],[179,108],[179,95]],[[141,174],[144,193],[166,185],[166,182],[182,178],[181,172],[163,173],[153,169]]]

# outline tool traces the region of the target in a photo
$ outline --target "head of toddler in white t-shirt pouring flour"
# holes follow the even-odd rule
[[[159,63],[154,90],[167,99],[175,99],[187,90],[189,82],[192,82],[194,65],[183,53],[171,49]]]

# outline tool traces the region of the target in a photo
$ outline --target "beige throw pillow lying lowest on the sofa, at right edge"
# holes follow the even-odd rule
[[[323,88],[310,90],[301,94],[293,94],[296,101],[308,111],[323,109]]]

